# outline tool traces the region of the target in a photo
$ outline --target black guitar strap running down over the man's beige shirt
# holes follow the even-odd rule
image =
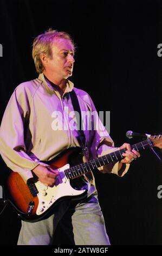
[[[72,100],[72,105],[73,105],[74,111],[79,113],[79,117],[78,117],[78,115],[76,115],[77,132],[78,132],[77,139],[78,139],[78,141],[81,145],[81,148],[82,148],[83,152],[85,152],[87,150],[87,148],[86,148],[86,137],[85,137],[85,133],[83,132],[83,120],[82,120],[79,101],[77,99],[77,96],[76,96],[76,93],[75,93],[74,90],[72,90],[72,92],[70,92],[69,94],[70,94],[70,97],[71,97],[71,100]]]

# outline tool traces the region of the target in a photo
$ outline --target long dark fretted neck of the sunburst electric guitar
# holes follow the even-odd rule
[[[137,151],[142,151],[150,147],[152,147],[152,142],[150,139],[146,139],[146,141],[131,145],[131,149],[135,149]],[[82,174],[89,172],[90,170],[105,166],[108,163],[118,162],[122,158],[124,158],[122,154],[125,153],[126,150],[126,148],[116,150],[107,155],[100,156],[94,160],[90,160],[88,162],[78,164],[77,166],[70,167],[69,169],[64,170],[64,174],[67,176],[68,179],[74,179]]]

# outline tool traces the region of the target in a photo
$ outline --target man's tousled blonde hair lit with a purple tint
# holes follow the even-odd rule
[[[52,30],[51,28],[48,31],[45,31],[43,34],[36,36],[34,39],[32,57],[34,59],[35,68],[38,74],[41,74],[44,70],[42,61],[40,59],[40,54],[45,53],[49,58],[52,59],[53,54],[51,45],[53,44],[54,39],[60,38],[69,40],[75,49],[74,42],[68,33]]]

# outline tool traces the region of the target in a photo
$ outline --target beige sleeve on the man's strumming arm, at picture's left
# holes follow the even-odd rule
[[[5,109],[0,128],[0,152],[4,162],[24,181],[33,177],[31,172],[38,162],[26,153],[24,125],[30,115],[30,104],[24,87],[18,86],[11,95]]]

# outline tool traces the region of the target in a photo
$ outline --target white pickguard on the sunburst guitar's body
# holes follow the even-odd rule
[[[75,190],[70,186],[70,180],[64,175],[64,170],[69,169],[69,164],[61,167],[59,170],[59,175],[57,176],[56,182],[53,187],[47,187],[42,182],[37,181],[35,186],[38,190],[38,207],[36,210],[36,215],[41,215],[47,211],[51,205],[53,205],[56,200],[61,197],[66,196],[79,196],[83,194],[86,190]]]

